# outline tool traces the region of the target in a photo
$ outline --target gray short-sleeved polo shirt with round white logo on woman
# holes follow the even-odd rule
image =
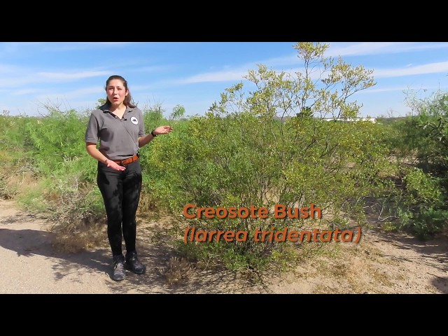
[[[85,142],[99,141],[99,151],[111,160],[131,158],[139,151],[138,138],[145,134],[143,113],[138,107],[127,107],[120,119],[108,107],[105,104],[90,114]]]

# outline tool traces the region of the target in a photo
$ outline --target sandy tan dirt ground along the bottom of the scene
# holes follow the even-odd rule
[[[111,280],[109,248],[58,253],[48,223],[0,200],[0,293],[448,293],[448,239],[423,243],[412,237],[364,230],[359,244],[332,243],[305,259],[294,273],[264,286],[248,286],[222,272],[190,271],[176,286],[167,282],[171,258],[154,223],[139,223],[146,274]]]

